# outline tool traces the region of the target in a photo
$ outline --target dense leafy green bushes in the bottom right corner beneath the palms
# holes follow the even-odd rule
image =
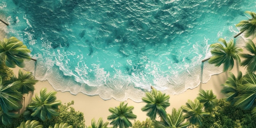
[[[255,128],[256,119],[251,110],[241,110],[230,102],[220,99],[210,115],[202,117],[199,128]]]

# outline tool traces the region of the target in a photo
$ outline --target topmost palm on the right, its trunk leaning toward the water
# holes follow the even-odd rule
[[[248,13],[252,16],[249,20],[242,20],[240,21],[236,27],[240,27],[240,33],[237,35],[239,36],[243,32],[245,32],[245,37],[253,36],[255,38],[256,36],[256,13],[251,11],[245,11],[245,13]],[[237,36],[234,36],[235,38]]]

